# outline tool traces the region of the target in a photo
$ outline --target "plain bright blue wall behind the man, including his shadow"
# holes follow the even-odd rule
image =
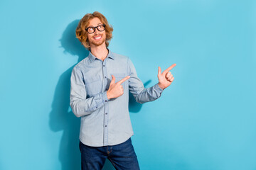
[[[110,50],[146,87],[157,67],[175,80],[161,98],[130,101],[141,169],[256,169],[256,2],[0,2],[0,169],[80,169],[71,70],[88,55],[75,28],[100,11]],[[112,169],[109,162],[105,169]]]

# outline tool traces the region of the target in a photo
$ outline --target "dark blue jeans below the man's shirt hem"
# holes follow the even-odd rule
[[[131,138],[114,146],[89,147],[80,142],[79,147],[82,170],[100,170],[104,166],[106,159],[110,160],[115,169],[139,169]]]

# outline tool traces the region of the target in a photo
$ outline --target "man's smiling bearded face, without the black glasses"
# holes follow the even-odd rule
[[[87,27],[96,27],[96,26],[100,26],[100,25],[102,25],[102,22],[100,21],[99,18],[95,17],[89,21],[89,26],[87,26]],[[92,46],[100,46],[103,43],[105,44],[106,31],[105,30],[99,31],[99,30],[97,30],[97,28],[95,28],[94,33],[87,32],[87,38],[88,38],[88,41],[89,41],[91,47]]]

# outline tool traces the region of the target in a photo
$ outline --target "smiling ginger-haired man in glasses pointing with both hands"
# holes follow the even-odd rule
[[[78,23],[76,36],[90,53],[73,68],[70,106],[80,124],[82,169],[102,169],[106,159],[115,169],[139,169],[131,138],[129,91],[139,103],[154,101],[174,77],[159,67],[159,83],[144,88],[129,57],[107,47],[113,28],[99,12],[87,13]]]

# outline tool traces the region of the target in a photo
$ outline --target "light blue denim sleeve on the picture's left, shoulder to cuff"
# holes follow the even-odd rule
[[[70,106],[77,117],[89,115],[109,101],[107,91],[87,98],[85,83],[79,68],[73,68],[70,83]]]

